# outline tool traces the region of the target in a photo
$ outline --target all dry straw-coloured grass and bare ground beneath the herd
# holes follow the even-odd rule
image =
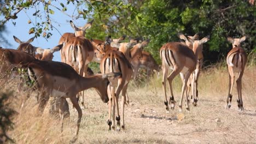
[[[190,105],[190,112],[184,109],[179,113],[177,106],[174,111],[165,112],[161,76],[150,79],[144,87],[131,82],[128,89],[131,103],[125,107],[126,133],[108,131],[108,106],[102,103],[94,90],[88,90],[76,143],[255,143],[255,72],[255,66],[247,67],[243,76],[243,112],[237,110],[236,85],[231,109],[224,109],[228,95],[228,71],[223,67],[202,71],[199,105]],[[10,91],[10,86],[15,85],[8,85],[2,91]],[[181,93],[179,77],[174,80],[173,89],[178,102]],[[34,96],[21,109],[21,98],[25,94],[16,95],[13,108],[19,114],[14,118],[15,129],[9,131],[16,143],[69,143],[74,136],[78,116],[71,105],[71,117],[61,133],[59,119],[49,117],[49,106],[42,116],[37,116]]]

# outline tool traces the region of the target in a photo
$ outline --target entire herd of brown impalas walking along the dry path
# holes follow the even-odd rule
[[[86,23],[83,27],[77,27],[70,21],[74,33],[64,33],[60,38],[59,45],[53,49],[42,49],[34,47],[30,43],[33,38],[26,42],[14,37],[14,40],[20,44],[17,50],[0,48],[0,73],[3,85],[7,80],[19,75],[17,69],[27,69],[28,80],[34,82],[33,88],[39,93],[38,111],[43,112],[49,97],[54,97],[54,105],[57,105],[57,111],[61,117],[61,129],[63,129],[63,119],[65,113],[69,113],[66,98],[78,111],[77,131],[74,140],[77,139],[80,121],[82,118],[82,109],[79,106],[78,98],[82,95],[82,108],[84,107],[84,90],[94,87],[104,103],[108,103],[108,121],[109,130],[117,129],[125,131],[124,124],[124,106],[129,103],[127,96],[127,87],[130,80],[136,79],[139,67],[146,67],[147,73],[153,70],[160,71],[149,52],[143,51],[149,40],[132,39],[129,42],[122,42],[125,35],[118,39],[112,39],[110,36],[105,40],[86,39],[86,29],[92,26],[93,20]],[[189,92],[191,88],[191,99],[194,106],[197,105],[198,91],[197,82],[203,62],[203,43],[206,43],[210,37],[207,36],[198,40],[199,35],[185,36],[178,33],[178,37],[184,42],[171,42],[164,44],[160,49],[161,69],[163,73],[162,87],[164,89],[166,111],[169,111],[168,99],[166,94],[166,85],[170,88],[169,104],[174,109],[176,101],[174,100],[172,81],[174,77],[180,74],[183,86],[181,98],[179,101],[179,111],[182,111],[183,96],[185,94],[185,106],[189,111]],[[232,88],[234,86],[234,73],[238,73],[237,79],[237,104],[240,110],[243,110],[242,101],[242,76],[247,62],[246,52],[240,47],[240,43],[246,37],[233,39],[228,37],[232,43],[232,50],[228,53],[226,62],[229,70],[229,93],[226,101],[226,108],[230,108],[232,100]],[[61,62],[53,62],[53,53],[60,51]],[[88,75],[88,64],[90,62],[100,63],[101,74]],[[171,73],[168,74],[168,71]],[[82,92],[82,94],[79,94]],[[121,117],[119,113],[119,94],[121,93]],[[115,109],[117,107],[117,109]],[[117,112],[115,112],[117,110]],[[112,114],[111,114],[112,112]],[[112,118],[111,118],[112,115]],[[115,120],[117,127],[115,128]],[[120,125],[120,120],[122,123]],[[113,122],[112,122],[113,121]]]

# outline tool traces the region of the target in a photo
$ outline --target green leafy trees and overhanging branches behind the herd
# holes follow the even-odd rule
[[[38,9],[33,14],[44,21],[31,27],[29,33],[36,37],[49,38],[55,28],[51,15],[63,13],[73,19],[93,17],[95,20],[86,38],[101,39],[107,35],[113,38],[126,34],[132,37],[149,38],[150,51],[160,63],[159,49],[168,41],[178,41],[177,32],[187,35],[200,34],[200,38],[210,35],[210,41],[204,44],[203,54],[207,64],[223,59],[231,49],[226,37],[247,36],[242,44],[247,53],[255,52],[256,46],[256,7],[244,0],[228,1],[174,1],[174,0],[117,0],[117,1],[74,1],[56,4],[56,0],[44,1],[5,1],[2,9],[4,22],[17,18],[21,9],[37,8],[44,5],[45,15]],[[66,13],[67,5],[77,8],[77,15]],[[83,6],[83,7],[82,7]],[[15,21],[13,21],[15,24]],[[43,34],[42,34],[43,33]]]

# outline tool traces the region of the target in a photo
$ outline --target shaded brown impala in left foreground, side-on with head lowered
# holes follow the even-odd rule
[[[64,118],[64,113],[63,110],[61,110],[61,107],[66,98],[71,100],[71,103],[78,112],[77,130],[74,140],[77,140],[82,118],[82,110],[76,98],[78,92],[94,87],[102,101],[107,103],[109,100],[107,95],[108,78],[120,75],[120,73],[111,73],[83,77],[77,74],[70,65],[53,61],[46,62],[34,60],[28,64],[27,67],[30,79],[36,81],[36,86],[41,94],[39,98],[39,112],[43,112],[50,95],[61,99],[59,107],[62,119],[61,130],[63,129]]]

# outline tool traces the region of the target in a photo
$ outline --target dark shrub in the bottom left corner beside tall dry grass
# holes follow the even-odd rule
[[[9,129],[13,129],[11,118],[15,114],[13,109],[10,109],[8,99],[12,93],[0,93],[0,143],[13,140],[7,135]]]

